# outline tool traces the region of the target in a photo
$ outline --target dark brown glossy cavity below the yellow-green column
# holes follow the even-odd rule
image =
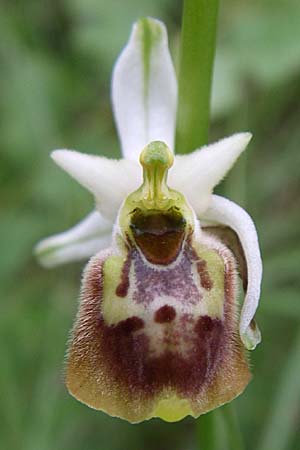
[[[186,220],[171,208],[167,212],[136,210],[130,228],[138,247],[152,264],[167,265],[174,261],[182,247]]]

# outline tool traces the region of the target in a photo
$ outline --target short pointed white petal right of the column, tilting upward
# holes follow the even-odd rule
[[[176,155],[170,187],[182,192],[196,214],[201,215],[208,207],[213,188],[231,169],[251,137],[251,133],[237,133],[188,155]]]

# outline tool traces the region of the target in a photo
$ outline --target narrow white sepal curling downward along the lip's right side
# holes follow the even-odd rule
[[[259,330],[252,322],[258,306],[262,280],[262,261],[256,228],[249,214],[230,200],[213,195],[207,210],[200,216],[204,220],[223,224],[238,235],[247,264],[248,286],[241,311],[240,335],[244,345],[253,350],[260,342]]]

